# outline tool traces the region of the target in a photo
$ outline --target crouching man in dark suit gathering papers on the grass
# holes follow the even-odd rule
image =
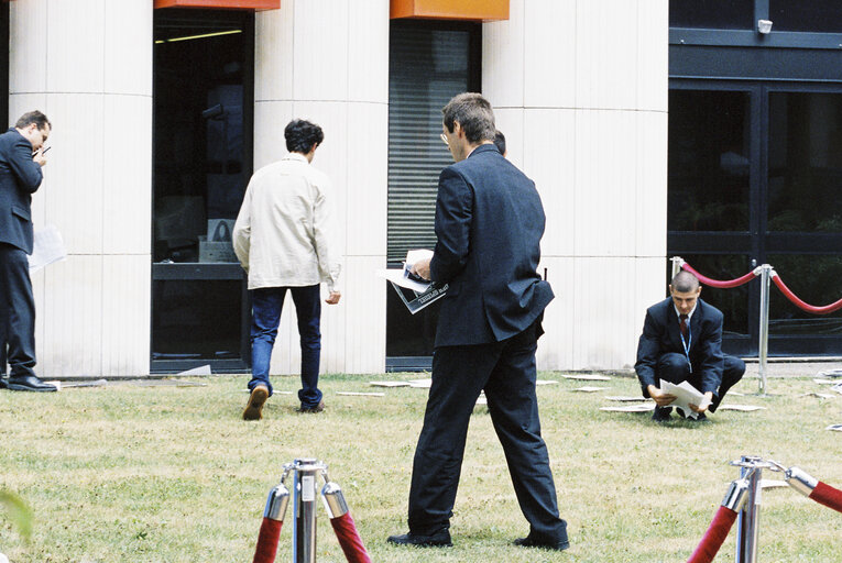
[[[634,369],[644,397],[655,402],[653,420],[669,420],[676,399],[659,388],[659,380],[688,382],[704,394],[701,405],[690,405],[704,420],[715,412],[728,390],[745,373],[745,363],[722,353],[722,312],[701,299],[699,279],[679,272],[669,285],[670,297],[646,311]]]

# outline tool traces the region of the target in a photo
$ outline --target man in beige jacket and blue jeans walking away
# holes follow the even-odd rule
[[[328,177],[310,166],[325,140],[321,128],[293,120],[284,130],[289,154],[259,169],[245,190],[233,230],[233,247],[249,274],[252,296],[251,373],[245,420],[262,418],[272,396],[269,365],[286,290],[293,295],[302,345],[299,412],[325,408],[318,389],[321,354],[319,284],[325,302],[337,305],[341,264],[332,254],[332,195]]]

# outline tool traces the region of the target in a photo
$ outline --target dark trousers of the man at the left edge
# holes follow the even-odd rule
[[[30,263],[25,252],[3,243],[0,243],[0,343],[6,352],[0,360],[9,362],[12,377],[35,375],[35,299]]]

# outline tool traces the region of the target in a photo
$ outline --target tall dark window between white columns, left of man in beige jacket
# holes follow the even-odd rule
[[[152,369],[245,368],[231,230],[251,176],[250,12],[155,11]]]

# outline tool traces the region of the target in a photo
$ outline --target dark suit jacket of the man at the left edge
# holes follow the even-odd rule
[[[0,242],[32,254],[32,194],[43,179],[32,144],[14,128],[0,135]]]

